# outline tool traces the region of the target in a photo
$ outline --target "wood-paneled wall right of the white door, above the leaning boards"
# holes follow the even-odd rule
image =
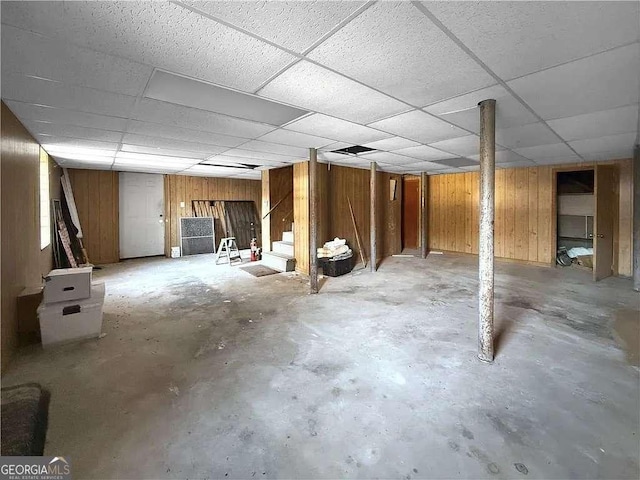
[[[180,217],[192,217],[192,200],[251,200],[258,213],[262,204],[260,180],[239,178],[188,177],[166,175],[164,181],[165,247],[166,256],[171,255],[171,247],[180,245]],[[184,202],[184,207],[181,207]],[[219,239],[216,239],[218,242]]]

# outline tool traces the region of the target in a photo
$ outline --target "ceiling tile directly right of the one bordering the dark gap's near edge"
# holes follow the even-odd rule
[[[467,133],[420,110],[386,118],[369,126],[420,143],[437,142],[447,138],[460,137]]]

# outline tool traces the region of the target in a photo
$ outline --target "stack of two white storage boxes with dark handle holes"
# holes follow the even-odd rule
[[[52,270],[38,307],[42,345],[100,336],[105,288],[92,282],[92,267]]]

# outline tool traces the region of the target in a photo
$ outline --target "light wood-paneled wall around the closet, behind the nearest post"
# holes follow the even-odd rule
[[[606,162],[611,163],[611,162]],[[631,273],[631,161],[618,160],[617,272]],[[585,166],[594,165],[581,165]],[[496,171],[496,257],[554,264],[554,172],[571,166]],[[429,177],[429,248],[478,253],[478,172]]]

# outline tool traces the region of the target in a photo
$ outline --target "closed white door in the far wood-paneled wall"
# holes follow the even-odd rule
[[[120,258],[164,255],[164,179],[120,172]]]

